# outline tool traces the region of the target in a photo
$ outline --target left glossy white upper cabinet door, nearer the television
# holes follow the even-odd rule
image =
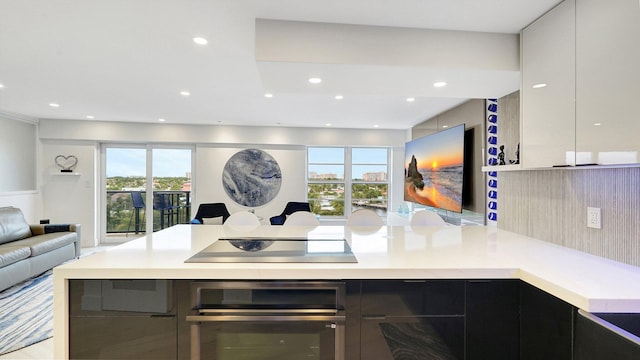
[[[575,164],[575,6],[565,0],[521,34],[523,168]]]

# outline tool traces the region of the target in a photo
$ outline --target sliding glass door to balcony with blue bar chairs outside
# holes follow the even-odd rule
[[[188,223],[191,148],[104,145],[103,243]]]

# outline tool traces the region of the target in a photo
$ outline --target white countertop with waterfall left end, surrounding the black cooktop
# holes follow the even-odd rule
[[[222,237],[346,239],[355,263],[185,262]],[[521,280],[592,313],[640,313],[640,269],[493,227],[176,225],[54,269],[56,358],[76,279]]]

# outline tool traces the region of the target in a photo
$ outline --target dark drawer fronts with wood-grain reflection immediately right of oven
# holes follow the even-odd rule
[[[361,359],[461,359],[463,280],[362,282]]]

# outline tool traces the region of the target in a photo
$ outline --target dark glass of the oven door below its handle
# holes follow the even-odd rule
[[[336,358],[339,330],[331,322],[202,322],[194,326],[199,327],[200,359]]]

